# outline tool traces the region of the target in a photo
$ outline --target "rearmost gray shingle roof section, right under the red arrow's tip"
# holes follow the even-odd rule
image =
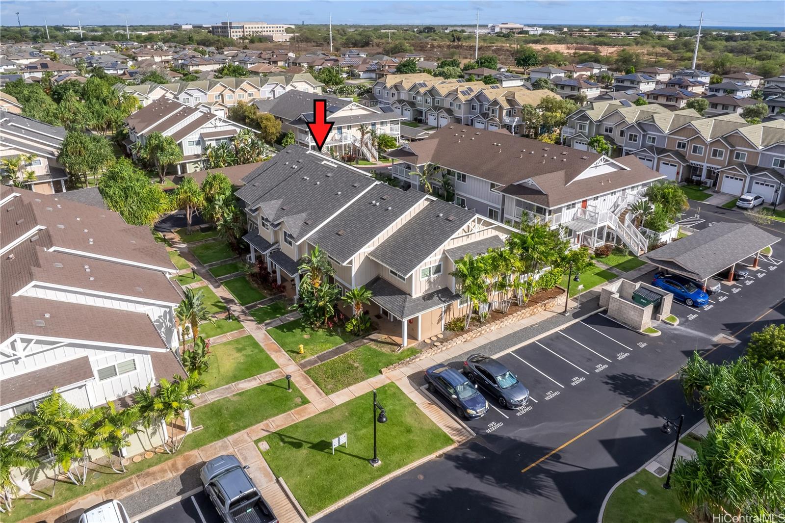
[[[243,182],[236,195],[273,224],[283,221],[297,242],[376,183],[299,145],[283,149]]]

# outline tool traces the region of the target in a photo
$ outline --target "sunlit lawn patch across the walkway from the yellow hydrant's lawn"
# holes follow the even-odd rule
[[[210,370],[202,376],[207,382],[205,390],[239,382],[278,367],[251,335],[210,346],[210,353]]]

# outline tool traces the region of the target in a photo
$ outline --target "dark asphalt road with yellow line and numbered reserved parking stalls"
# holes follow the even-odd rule
[[[725,219],[721,211],[701,216],[707,220],[698,229]],[[739,213],[728,219],[746,221]],[[535,401],[469,422],[473,440],[323,521],[597,521],[612,485],[672,441],[659,431],[663,416],[685,413],[688,426],[699,421],[677,380],[669,380],[686,357],[708,349],[710,360],[734,359],[751,332],[785,318],[782,243],[761,271],[724,286],[706,307],[674,305],[681,324],[663,326],[657,338],[594,315],[500,357]],[[741,342],[714,343],[721,333]],[[513,334],[485,349],[499,352],[519,341]]]

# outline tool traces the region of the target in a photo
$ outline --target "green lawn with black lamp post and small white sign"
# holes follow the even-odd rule
[[[313,515],[352,492],[407,464],[436,452],[452,440],[395,384],[378,389],[388,421],[379,425],[378,455],[371,466],[374,426],[371,393],[287,426],[264,438],[263,452],[273,474],[283,477],[306,514]],[[330,452],[330,440],[347,433],[349,447]]]

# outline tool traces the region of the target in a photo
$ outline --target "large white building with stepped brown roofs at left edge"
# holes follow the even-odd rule
[[[0,426],[55,387],[93,408],[185,374],[177,269],[147,227],[5,186],[0,211]]]

